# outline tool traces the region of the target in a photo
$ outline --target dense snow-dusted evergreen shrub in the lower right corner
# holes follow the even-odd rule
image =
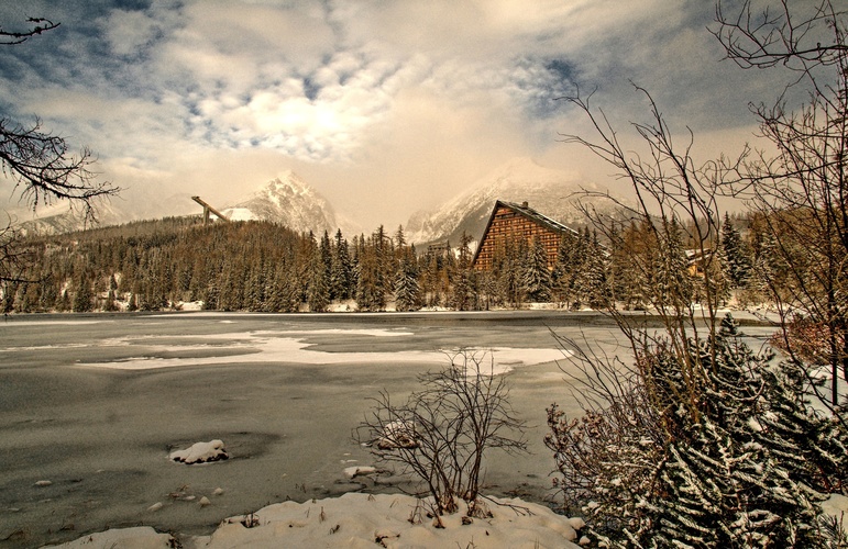
[[[807,488],[840,483],[838,424],[729,318],[685,356],[670,343],[639,348],[625,374],[584,355],[587,412],[548,410],[565,505],[609,547],[839,547]]]

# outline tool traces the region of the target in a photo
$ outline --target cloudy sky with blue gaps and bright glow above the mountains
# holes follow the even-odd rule
[[[733,5],[733,2],[730,2]],[[64,0],[0,2],[0,115],[89,147],[137,215],[219,208],[294,170],[364,227],[396,226],[515,157],[615,190],[561,134],[560,98],[627,133],[648,89],[696,152],[741,147],[771,72],[723,60],[705,0]],[[632,83],[631,83],[632,82]],[[0,203],[14,203],[0,181]],[[195,212],[196,213],[196,212]]]

